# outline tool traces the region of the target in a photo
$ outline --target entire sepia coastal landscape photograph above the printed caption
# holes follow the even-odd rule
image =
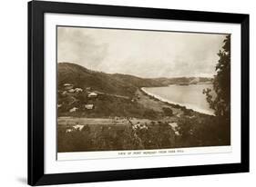
[[[230,34],[56,26],[57,153],[230,145]]]

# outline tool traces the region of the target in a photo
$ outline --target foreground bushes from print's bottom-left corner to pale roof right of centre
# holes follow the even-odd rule
[[[175,133],[168,123],[162,122],[137,130],[127,125],[98,125],[70,133],[59,128],[57,141],[59,153],[164,149],[175,146]]]

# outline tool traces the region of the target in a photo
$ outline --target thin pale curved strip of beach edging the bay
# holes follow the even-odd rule
[[[173,102],[173,101],[170,101],[168,99],[165,99],[165,98],[162,98],[161,96],[157,95],[157,94],[151,94],[149,93],[148,91],[146,91],[144,88],[147,88],[147,87],[141,87],[140,90],[145,93],[145,94],[148,94],[156,99],[158,99],[159,101],[161,102],[165,102],[165,103],[169,103],[169,104],[178,104],[179,106],[183,106],[183,107],[186,107],[186,109],[191,109],[197,113],[203,113],[203,114],[207,114],[207,115],[214,115],[214,113],[210,113],[209,111],[206,111],[206,110],[203,110],[203,109],[200,109],[199,107],[193,105],[193,104],[184,104],[184,103],[179,103],[179,102]]]

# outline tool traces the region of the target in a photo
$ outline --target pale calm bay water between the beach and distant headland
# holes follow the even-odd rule
[[[142,88],[162,101],[177,103],[200,113],[213,114],[206,95],[202,94],[204,88],[212,88],[211,84],[169,85],[169,87]]]

